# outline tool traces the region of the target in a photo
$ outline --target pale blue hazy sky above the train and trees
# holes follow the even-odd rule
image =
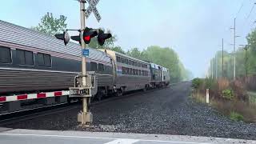
[[[110,29],[118,36],[116,45],[125,50],[172,47],[186,69],[202,77],[214,52],[221,50],[222,38],[224,49],[233,50],[230,27],[235,17],[241,36],[237,46],[245,44],[246,34],[255,26],[253,6],[253,0],[101,0],[97,6],[101,22],[91,14],[86,25]],[[46,12],[65,15],[70,29],[80,26],[75,0],[8,0],[0,5],[1,20],[25,27],[37,26]]]

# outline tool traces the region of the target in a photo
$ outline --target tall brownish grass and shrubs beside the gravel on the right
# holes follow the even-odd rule
[[[232,120],[256,122],[256,103],[246,91],[246,85],[237,80],[230,82],[225,78],[201,79],[200,85],[192,90],[192,98],[206,103],[206,89],[210,89],[210,106]],[[256,93],[255,99],[256,100]]]

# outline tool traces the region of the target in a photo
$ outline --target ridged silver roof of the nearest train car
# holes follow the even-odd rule
[[[69,54],[81,57],[81,46],[74,42],[69,42],[67,46],[62,40],[48,34],[42,34],[38,31],[28,29],[26,27],[14,25],[10,22],[0,20],[0,41],[10,42],[22,46],[30,46],[36,49],[57,52],[61,54]],[[110,61],[104,52],[90,48],[89,58],[98,61]]]

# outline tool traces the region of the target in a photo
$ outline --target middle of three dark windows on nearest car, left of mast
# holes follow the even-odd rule
[[[16,50],[16,55],[18,58],[18,64],[29,66],[34,65],[34,55],[32,51]]]

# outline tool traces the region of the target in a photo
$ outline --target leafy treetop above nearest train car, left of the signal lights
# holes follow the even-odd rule
[[[47,12],[42,18],[38,26],[32,27],[33,30],[37,30],[43,34],[58,34],[66,30],[66,17],[60,15],[59,18],[54,18],[52,13]]]

